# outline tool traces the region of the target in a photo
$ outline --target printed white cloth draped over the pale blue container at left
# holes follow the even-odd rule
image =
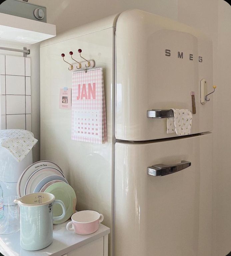
[[[21,162],[37,143],[33,133],[25,130],[0,130],[0,146],[9,150]]]

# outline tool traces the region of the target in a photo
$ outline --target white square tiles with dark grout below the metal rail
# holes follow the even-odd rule
[[[0,55],[0,130],[31,131],[30,58]]]

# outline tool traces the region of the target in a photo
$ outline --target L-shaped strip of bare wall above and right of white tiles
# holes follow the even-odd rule
[[[40,160],[40,73],[39,73],[39,44],[27,45],[13,42],[0,41],[0,46],[31,50],[28,57],[31,58],[31,123],[32,133],[38,139],[38,143],[33,148],[33,161]],[[0,50],[0,54],[23,56],[23,53]]]

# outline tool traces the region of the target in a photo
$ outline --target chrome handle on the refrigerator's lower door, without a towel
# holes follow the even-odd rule
[[[147,174],[151,176],[164,176],[171,173],[179,172],[191,166],[191,162],[182,160],[180,164],[175,165],[153,165],[147,168]]]

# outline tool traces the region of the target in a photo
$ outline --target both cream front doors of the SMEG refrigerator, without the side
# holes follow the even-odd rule
[[[117,20],[115,45],[115,255],[210,256],[212,43],[131,10]],[[167,134],[168,109],[192,110],[192,93],[191,134]]]

